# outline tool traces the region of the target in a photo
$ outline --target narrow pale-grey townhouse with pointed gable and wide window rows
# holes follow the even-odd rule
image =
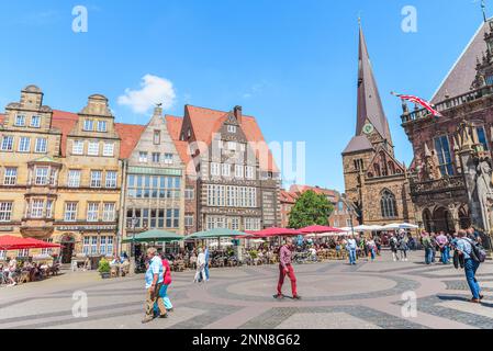
[[[145,229],[183,234],[184,165],[160,107],[124,162],[126,237]]]

